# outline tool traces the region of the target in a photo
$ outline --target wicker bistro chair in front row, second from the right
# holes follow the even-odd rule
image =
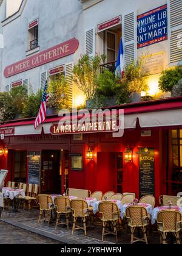
[[[149,217],[147,214],[147,210],[145,207],[141,206],[131,206],[126,208],[126,218],[127,218],[127,224],[131,229],[131,244],[136,243],[138,241],[143,241],[146,244],[147,241],[147,226],[149,225]],[[141,228],[144,234],[144,238],[138,238],[134,236],[134,232],[136,227]]]

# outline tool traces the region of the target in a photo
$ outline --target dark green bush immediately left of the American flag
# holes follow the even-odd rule
[[[36,94],[33,93],[33,91],[30,92],[27,101],[24,102],[24,109],[22,111],[22,115],[24,116],[24,118],[35,117],[38,115],[41,100],[41,90],[39,90]]]

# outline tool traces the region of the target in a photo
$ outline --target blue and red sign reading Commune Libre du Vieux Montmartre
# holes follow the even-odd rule
[[[138,49],[167,40],[167,4],[137,17]]]

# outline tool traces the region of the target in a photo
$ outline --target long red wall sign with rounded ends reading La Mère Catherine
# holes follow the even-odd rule
[[[29,69],[44,65],[45,63],[53,62],[54,60],[58,60],[68,55],[74,54],[78,49],[78,46],[79,41],[76,38],[72,38],[68,41],[65,41],[64,43],[53,46],[52,48],[33,55],[27,59],[7,66],[4,70],[4,76],[6,78],[11,77],[15,74],[19,74]]]

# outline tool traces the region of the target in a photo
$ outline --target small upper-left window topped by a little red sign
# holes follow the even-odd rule
[[[39,25],[38,20],[29,24],[28,30],[28,50],[33,50],[38,47]]]

